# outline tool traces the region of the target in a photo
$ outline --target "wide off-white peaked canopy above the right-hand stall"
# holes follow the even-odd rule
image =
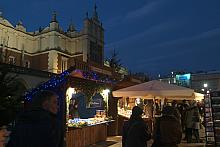
[[[139,97],[145,99],[167,98],[180,100],[194,99],[195,93],[193,89],[153,80],[113,91],[113,96],[135,98]]]

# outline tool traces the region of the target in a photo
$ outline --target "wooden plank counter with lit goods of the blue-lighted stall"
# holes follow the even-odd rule
[[[68,127],[66,132],[67,147],[85,147],[105,141],[107,139],[107,125],[113,120],[79,119],[68,122],[68,126],[72,127]],[[80,125],[73,125],[77,122]]]

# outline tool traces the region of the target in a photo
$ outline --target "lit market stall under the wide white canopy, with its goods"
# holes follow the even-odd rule
[[[143,108],[143,118],[152,130],[153,118],[160,115],[157,112],[161,112],[165,103],[172,100],[193,100],[196,94],[193,89],[154,80],[113,91],[113,96],[120,97],[118,101],[119,130],[122,128],[123,121],[129,119],[134,106]]]

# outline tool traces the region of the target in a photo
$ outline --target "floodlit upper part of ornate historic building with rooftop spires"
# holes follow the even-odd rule
[[[96,6],[92,17],[87,13],[80,31],[72,23],[64,31],[54,13],[48,27],[27,32],[21,21],[14,27],[1,13],[0,53],[4,63],[53,73],[77,65],[83,70],[110,74],[109,68],[103,67],[104,29]]]

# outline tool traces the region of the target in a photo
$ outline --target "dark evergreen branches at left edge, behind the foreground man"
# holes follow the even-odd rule
[[[23,108],[25,87],[16,78],[16,74],[9,74],[8,68],[0,66],[0,126],[13,122]]]

